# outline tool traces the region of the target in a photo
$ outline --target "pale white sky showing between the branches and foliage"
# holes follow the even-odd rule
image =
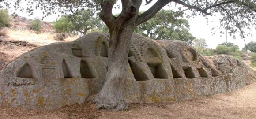
[[[120,0],[119,0],[120,1]],[[120,4],[120,3],[117,3]],[[147,8],[151,7],[154,3],[151,3],[149,5],[141,6],[140,11],[146,11]],[[26,4],[24,4],[26,5]],[[174,7],[173,4],[170,4],[169,6],[164,7],[164,9],[173,9],[175,10],[177,8]],[[115,9],[113,10],[113,14],[117,14],[120,12],[121,9]],[[43,16],[42,11],[40,10],[35,10],[34,15],[29,15],[29,13],[26,12],[21,12],[21,11],[15,11],[20,16],[29,18],[29,19],[34,19],[36,17],[41,18]],[[44,21],[47,22],[53,22],[56,19],[60,18],[60,14],[54,14],[50,15],[44,18]],[[216,27],[219,26],[219,18],[218,16],[215,17],[208,17],[208,20],[203,17],[203,16],[196,16],[194,18],[189,18],[187,19],[190,25],[190,33],[196,37],[196,38],[203,38],[206,40],[208,47],[207,48],[212,48],[215,49],[218,44],[221,44],[223,42],[226,42],[226,35],[225,34],[220,34],[220,30]],[[214,32],[215,34],[212,34],[211,29],[215,28]],[[251,41],[256,41],[256,30],[247,30],[245,32],[250,32],[252,34],[255,34],[254,36],[249,36],[245,38],[246,43],[249,43]],[[222,37],[221,37],[222,35]],[[238,45],[240,49],[245,47],[244,40],[239,37],[239,33],[236,34],[237,39],[233,39],[233,37],[230,37],[228,35],[228,42],[232,42],[235,45]]]

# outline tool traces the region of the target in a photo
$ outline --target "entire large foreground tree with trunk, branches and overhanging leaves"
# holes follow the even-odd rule
[[[45,15],[56,12],[73,13],[82,8],[94,8],[95,11],[100,11],[100,18],[105,22],[110,33],[109,63],[104,86],[93,101],[98,108],[107,109],[128,108],[124,99],[124,90],[132,33],[136,26],[147,22],[167,4],[181,6],[178,7],[179,11],[191,11],[190,17],[222,15],[220,26],[232,31],[231,33],[239,32],[242,38],[246,35],[244,29],[256,27],[256,0],[120,0],[122,10],[118,16],[112,14],[113,8],[118,7],[115,5],[117,0],[0,0],[7,7],[11,7],[11,2],[15,2],[16,8],[22,6],[21,1],[33,1],[27,2],[26,11],[33,13],[31,4],[36,4],[36,7],[45,11]],[[150,3],[152,6],[139,14],[141,5]],[[229,26],[232,28],[230,29]]]

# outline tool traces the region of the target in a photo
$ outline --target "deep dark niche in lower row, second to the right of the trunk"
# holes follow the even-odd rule
[[[168,79],[167,73],[162,63],[147,63],[154,78]]]

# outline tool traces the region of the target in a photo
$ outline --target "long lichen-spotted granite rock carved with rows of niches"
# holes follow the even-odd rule
[[[51,109],[83,103],[105,82],[109,38],[89,33],[19,56],[0,71],[0,104]],[[247,67],[228,56],[205,58],[181,41],[154,41],[133,34],[125,99],[129,103],[172,102],[245,86]]]

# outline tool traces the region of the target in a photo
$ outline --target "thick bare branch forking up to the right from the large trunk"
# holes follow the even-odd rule
[[[166,4],[172,1],[173,0],[158,0],[152,7],[150,7],[147,11],[138,16],[138,18],[136,19],[136,26],[143,22],[146,22],[148,19],[151,19],[158,11],[162,9],[162,7],[166,6]]]

